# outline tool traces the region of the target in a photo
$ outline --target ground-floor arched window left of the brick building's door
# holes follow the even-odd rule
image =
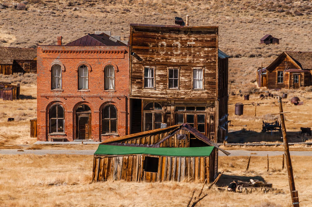
[[[50,133],[64,132],[64,108],[60,104],[51,106],[49,119]]]

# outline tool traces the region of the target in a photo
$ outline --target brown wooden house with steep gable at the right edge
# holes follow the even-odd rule
[[[268,89],[309,86],[311,70],[312,52],[283,52],[268,67],[258,69],[258,86]]]

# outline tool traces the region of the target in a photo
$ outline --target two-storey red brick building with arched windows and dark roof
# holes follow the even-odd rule
[[[129,134],[129,47],[110,33],[37,48],[38,140]]]

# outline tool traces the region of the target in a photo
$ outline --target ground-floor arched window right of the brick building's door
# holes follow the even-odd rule
[[[117,110],[108,105],[102,110],[102,134],[117,133]]]

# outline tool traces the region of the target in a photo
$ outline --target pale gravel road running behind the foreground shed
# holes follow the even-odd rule
[[[227,150],[231,153],[229,156],[275,156],[282,155],[282,151],[247,151],[247,150]],[[81,154],[81,155],[93,155],[95,150],[24,150],[24,152],[18,152],[17,149],[2,149],[0,154]],[[256,153],[256,154],[251,154]],[[297,156],[312,156],[312,151],[291,151],[290,155]],[[219,156],[226,156],[223,152],[219,151]]]

